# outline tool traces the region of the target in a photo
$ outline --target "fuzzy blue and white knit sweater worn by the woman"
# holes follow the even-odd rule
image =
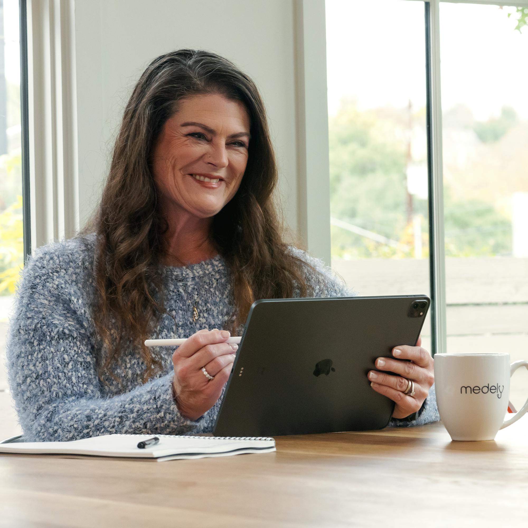
[[[108,385],[98,379],[95,357],[101,342],[90,315],[95,295],[94,243],[92,235],[44,246],[24,268],[8,333],[7,368],[25,440],[212,431],[223,393],[198,420],[184,418],[173,399],[173,350],[169,347],[158,349],[163,371],[145,384],[145,364],[133,347],[121,356],[120,366],[114,370],[121,385],[110,376],[106,378]],[[315,297],[352,295],[322,261],[296,248],[292,251],[326,276],[320,280],[307,272]],[[221,256],[187,268],[165,266],[162,272],[170,315],[161,320],[159,338],[187,337],[201,328],[222,328],[232,316],[231,277]],[[195,322],[193,306],[199,313]],[[419,425],[438,419],[433,390],[418,420],[391,423]]]

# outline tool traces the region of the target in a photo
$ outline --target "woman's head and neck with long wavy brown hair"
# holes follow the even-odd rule
[[[235,309],[216,324],[231,333],[254,300],[311,291],[306,259],[282,239],[276,184],[266,110],[246,74],[196,50],[148,65],[125,109],[99,210],[83,231],[97,233],[94,324],[108,351],[100,373],[110,373],[125,336],[142,351],[145,380],[159,369],[143,341],[166,313],[160,265],[224,259]]]

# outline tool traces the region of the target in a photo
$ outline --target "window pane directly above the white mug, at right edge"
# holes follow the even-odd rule
[[[512,362],[528,356],[526,13],[440,4],[448,352]],[[527,386],[520,369],[516,407]]]

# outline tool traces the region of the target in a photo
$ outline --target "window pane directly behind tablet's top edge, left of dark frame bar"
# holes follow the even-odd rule
[[[424,9],[326,2],[332,266],[359,295],[430,291]]]

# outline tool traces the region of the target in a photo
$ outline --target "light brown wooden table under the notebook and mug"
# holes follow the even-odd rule
[[[0,455],[0,526],[527,526],[528,418],[495,441],[441,423],[278,437],[163,463]]]

